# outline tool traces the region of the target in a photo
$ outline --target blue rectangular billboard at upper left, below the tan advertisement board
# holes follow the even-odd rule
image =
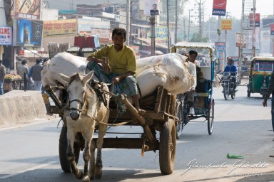
[[[14,46],[41,47],[43,21],[16,19],[14,21]]]

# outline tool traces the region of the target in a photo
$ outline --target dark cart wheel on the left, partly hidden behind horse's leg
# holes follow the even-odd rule
[[[61,134],[59,137],[59,161],[61,164],[61,168],[65,173],[70,173],[71,172],[71,165],[68,162],[68,159],[66,158],[66,148],[68,146],[68,141],[66,139],[66,132],[68,128],[63,125],[61,129]],[[80,155],[80,146],[78,144],[73,145],[74,149],[74,155],[75,155],[75,161],[76,164],[78,164],[78,159]]]

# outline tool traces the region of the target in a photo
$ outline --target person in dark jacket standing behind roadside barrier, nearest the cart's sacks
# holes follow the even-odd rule
[[[32,80],[34,80],[34,90],[41,90],[41,70],[43,70],[43,68],[44,67],[41,63],[41,60],[37,59],[36,64],[31,67],[31,70],[29,70],[29,78],[32,77]]]

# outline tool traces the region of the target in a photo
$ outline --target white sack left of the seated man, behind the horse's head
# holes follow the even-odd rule
[[[63,80],[59,77],[59,73],[72,76],[75,73],[86,73],[86,58],[78,57],[70,53],[58,53],[46,62],[44,69],[41,71],[42,85],[56,85],[59,81],[63,85]],[[89,72],[89,70],[87,71]]]

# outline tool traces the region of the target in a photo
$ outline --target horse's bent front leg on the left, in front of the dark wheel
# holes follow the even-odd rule
[[[80,171],[77,168],[77,164],[74,158],[74,151],[73,151],[73,145],[74,145],[74,141],[75,141],[75,137],[76,137],[76,132],[73,131],[73,129],[70,129],[70,127],[68,127],[68,131],[66,134],[67,140],[68,140],[68,148],[66,150],[66,158],[69,161],[69,164],[71,165],[71,171],[73,173],[73,175],[78,178],[81,179],[83,176],[82,171]]]

